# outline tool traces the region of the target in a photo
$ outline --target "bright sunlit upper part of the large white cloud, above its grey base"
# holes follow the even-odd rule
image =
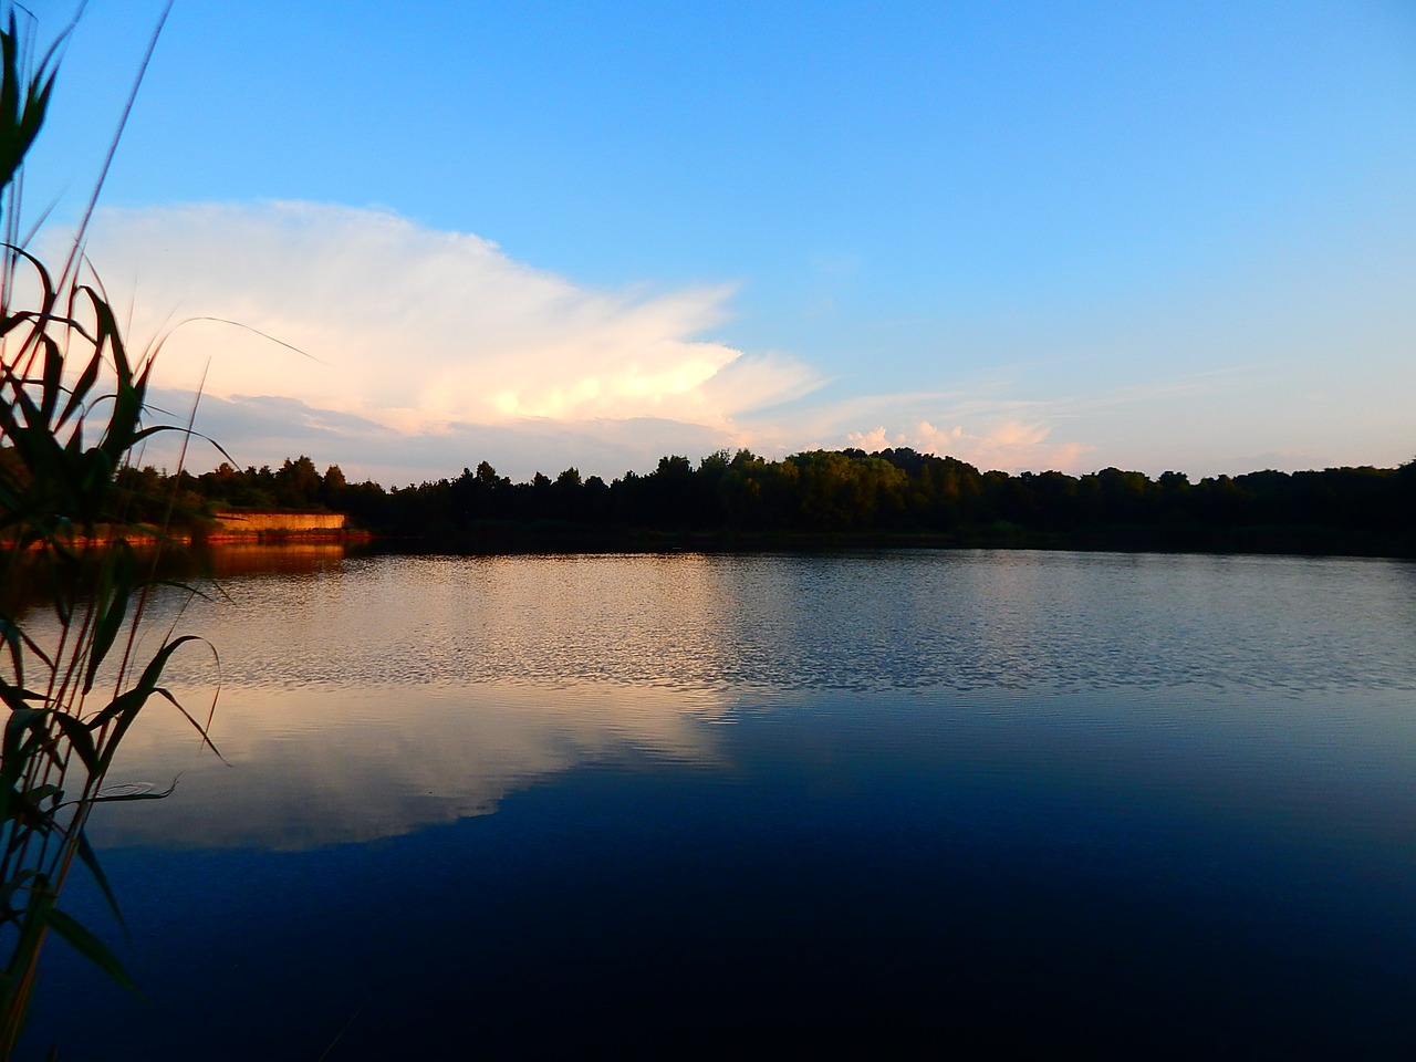
[[[88,249],[130,304],[132,336],[177,326],[164,384],[195,387],[210,358],[214,396],[276,395],[406,435],[644,416],[728,432],[735,415],[817,382],[792,358],[702,338],[729,286],[592,290],[382,211],[106,210]],[[190,320],[202,317],[244,329]]]

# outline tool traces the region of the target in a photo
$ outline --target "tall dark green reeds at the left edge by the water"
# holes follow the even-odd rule
[[[144,624],[160,581],[152,551],[135,542],[154,534],[161,539],[164,532],[161,525],[139,528],[127,518],[132,497],[118,479],[156,432],[184,429],[149,422],[157,350],[135,355],[102,286],[84,279],[88,217],[58,269],[41,262],[20,234],[21,167],[44,125],[58,59],[54,48],[34,54],[33,31],[17,27],[13,8],[0,30],[0,52],[4,1059],[23,1028],[50,933],[127,983],[115,953],[59,906],[59,895],[79,862],[118,915],[88,840],[89,816],[105,800],[161,796],[105,794],[123,736],[149,704],[160,701],[180,711],[210,745],[211,715],[195,718],[163,685],[173,654],[195,639],[177,634],[171,620],[159,624],[156,636],[149,632],[153,624]]]

